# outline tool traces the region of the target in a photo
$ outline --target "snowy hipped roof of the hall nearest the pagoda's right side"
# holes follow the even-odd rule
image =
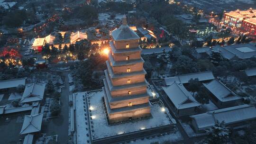
[[[177,109],[192,108],[201,105],[192,97],[183,84],[174,82],[169,87],[163,87],[163,90]]]

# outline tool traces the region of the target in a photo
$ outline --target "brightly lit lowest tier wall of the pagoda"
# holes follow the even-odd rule
[[[150,112],[149,103],[143,105],[135,105],[125,108],[110,109],[109,103],[106,102],[107,98],[104,95],[104,105],[107,112],[109,124],[115,124],[120,122],[127,122],[131,120],[137,120],[140,118],[152,117]]]

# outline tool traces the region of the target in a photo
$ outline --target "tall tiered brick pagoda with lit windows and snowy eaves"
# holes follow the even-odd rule
[[[105,70],[104,100],[110,124],[150,117],[148,85],[138,45],[139,36],[128,27],[127,18],[110,34],[111,51]]]

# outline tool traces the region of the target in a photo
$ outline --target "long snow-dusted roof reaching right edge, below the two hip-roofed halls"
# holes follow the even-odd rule
[[[212,110],[206,113],[190,116],[199,130],[214,126],[217,121],[229,125],[256,118],[255,106],[240,105],[229,108]]]

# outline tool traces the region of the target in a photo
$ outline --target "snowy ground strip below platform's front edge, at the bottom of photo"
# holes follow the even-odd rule
[[[144,139],[144,140],[136,140],[136,141],[131,141],[130,144],[151,144],[154,142],[159,142],[160,144],[165,142],[165,141],[180,141],[183,140],[183,137],[179,131],[176,131],[174,133],[170,133],[168,135],[163,135],[163,136],[155,136],[155,137],[150,137],[149,139]]]

